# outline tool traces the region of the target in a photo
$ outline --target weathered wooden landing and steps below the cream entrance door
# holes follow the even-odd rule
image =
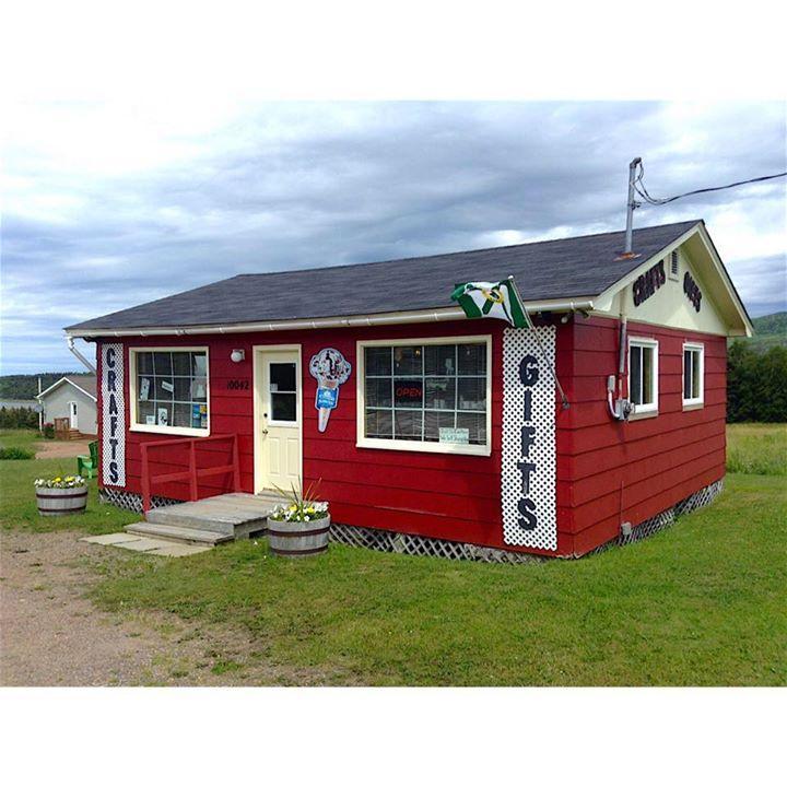
[[[126,531],[186,543],[222,543],[268,528],[268,515],[283,498],[272,492],[244,492],[178,503],[148,512],[146,521],[127,525]]]

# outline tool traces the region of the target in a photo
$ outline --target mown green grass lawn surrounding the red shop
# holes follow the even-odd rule
[[[784,427],[768,428],[779,449]],[[731,447],[743,432],[732,427]],[[103,532],[134,519],[92,498],[83,517],[37,520],[27,482],[55,463],[0,462],[4,527]],[[337,544],[286,561],[248,541],[181,560],[96,549],[91,592],[115,611],[235,623],[261,657],[336,683],[784,685],[785,488],[784,475],[730,473],[713,506],[582,561],[502,566]]]

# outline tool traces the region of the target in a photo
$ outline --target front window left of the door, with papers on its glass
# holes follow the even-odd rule
[[[131,350],[131,424],[142,432],[207,435],[208,350]]]

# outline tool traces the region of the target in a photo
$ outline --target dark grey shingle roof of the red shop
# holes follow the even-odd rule
[[[516,278],[525,301],[594,297],[695,226],[634,231],[636,259],[618,260],[623,233],[309,270],[251,273],[69,326],[66,330],[196,327],[411,312],[455,305],[453,285]]]

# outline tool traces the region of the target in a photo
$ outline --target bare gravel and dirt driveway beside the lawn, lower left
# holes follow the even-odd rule
[[[315,685],[329,676],[273,665],[267,644],[230,626],[166,613],[110,614],[85,590],[91,562],[128,560],[81,533],[3,532],[2,685]],[[150,557],[149,560],[173,560]],[[177,560],[188,560],[187,557]]]

